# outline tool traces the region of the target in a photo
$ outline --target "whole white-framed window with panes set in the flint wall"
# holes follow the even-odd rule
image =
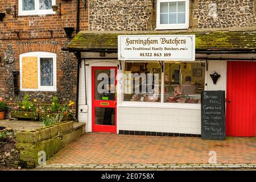
[[[188,0],[159,0],[156,7],[156,29],[188,28]]]

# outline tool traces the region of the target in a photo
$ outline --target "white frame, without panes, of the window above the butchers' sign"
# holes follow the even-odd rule
[[[160,24],[160,3],[185,2],[185,23]],[[158,0],[156,1],[156,30],[188,29],[189,27],[189,0]]]

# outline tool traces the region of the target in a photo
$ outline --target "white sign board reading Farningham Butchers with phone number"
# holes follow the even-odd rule
[[[119,60],[195,61],[195,35],[119,35]]]

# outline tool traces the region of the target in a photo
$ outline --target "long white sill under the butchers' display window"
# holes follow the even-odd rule
[[[193,109],[201,110],[201,104],[186,103],[160,103],[160,102],[136,102],[123,101],[118,107],[147,107],[147,108],[164,108],[164,109]]]

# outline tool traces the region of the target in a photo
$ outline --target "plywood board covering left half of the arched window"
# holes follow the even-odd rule
[[[22,57],[22,88],[38,88],[38,57]]]

